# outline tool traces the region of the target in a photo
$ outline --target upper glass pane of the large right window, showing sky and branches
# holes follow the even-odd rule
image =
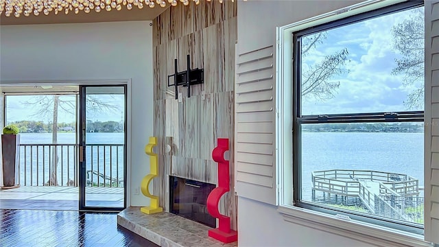
[[[302,36],[302,115],[424,110],[424,8]]]

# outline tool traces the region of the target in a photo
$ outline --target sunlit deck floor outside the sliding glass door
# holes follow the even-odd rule
[[[79,187],[23,186],[0,190],[0,209],[78,210]],[[123,207],[123,188],[86,187],[86,206]]]

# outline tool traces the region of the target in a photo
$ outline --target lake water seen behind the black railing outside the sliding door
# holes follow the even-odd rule
[[[21,144],[51,144],[51,133],[21,133]],[[75,133],[58,133],[58,167],[57,178],[58,184],[67,185],[69,180],[74,181],[77,178],[78,169],[75,167],[76,160],[76,134]],[[102,184],[102,176],[110,176],[113,179],[119,179],[119,186],[123,182],[123,132],[91,132],[86,133],[86,144],[94,146],[86,147],[86,171],[89,172],[87,180],[89,185]],[[98,145],[102,144],[102,145]],[[104,145],[105,144],[105,145]],[[112,146],[108,146],[112,144]],[[118,144],[118,145],[116,145]],[[47,146],[21,147],[20,158],[20,183],[21,185],[43,185],[49,180],[49,169],[51,169],[51,152],[54,149]],[[29,158],[32,156],[32,159]],[[26,158],[25,158],[26,157]],[[62,165],[61,165],[62,164]],[[25,172],[26,171],[26,172]],[[30,176],[32,171],[32,176]],[[97,176],[102,174],[102,176]],[[24,183],[25,182],[25,183]],[[110,183],[110,180],[105,180]]]

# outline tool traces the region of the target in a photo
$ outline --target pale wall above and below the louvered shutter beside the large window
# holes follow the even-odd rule
[[[276,27],[359,1],[239,1],[238,54],[274,45]],[[277,207],[238,198],[239,246],[370,246],[355,239],[285,222]]]

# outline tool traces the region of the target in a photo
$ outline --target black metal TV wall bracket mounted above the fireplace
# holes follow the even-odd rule
[[[178,99],[178,86],[187,86],[187,97],[191,97],[191,85],[204,83],[204,69],[191,69],[191,56],[187,55],[187,70],[178,72],[178,60],[174,60],[175,73],[167,76],[167,86],[174,86],[176,99]],[[174,84],[170,84],[169,78],[174,77]]]

